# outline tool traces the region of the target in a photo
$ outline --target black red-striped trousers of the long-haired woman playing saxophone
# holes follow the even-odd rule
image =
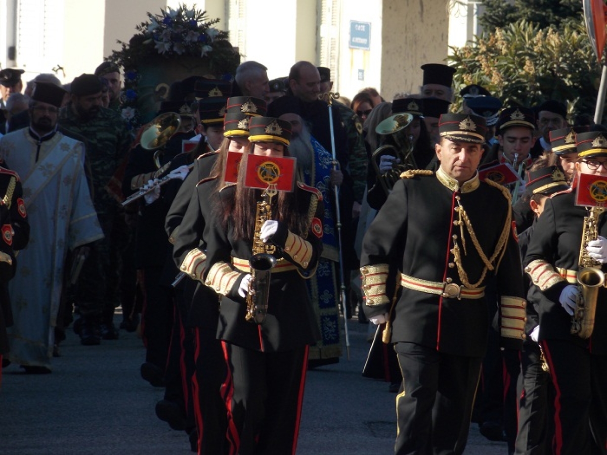
[[[259,352],[223,342],[230,455],[294,454],[308,346]]]

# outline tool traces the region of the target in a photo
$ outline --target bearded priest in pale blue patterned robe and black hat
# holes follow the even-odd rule
[[[9,289],[15,318],[9,359],[30,373],[51,371],[68,250],[83,257],[88,243],[103,238],[84,175],[84,146],[57,131],[65,93],[53,84],[36,84],[30,127],[0,139],[0,157],[21,176],[32,229]]]

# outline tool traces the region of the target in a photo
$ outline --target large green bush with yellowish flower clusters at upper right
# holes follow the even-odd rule
[[[521,19],[452,52],[456,90],[479,84],[504,106],[558,99],[570,115],[594,112],[600,66],[582,19],[563,22],[560,29]]]

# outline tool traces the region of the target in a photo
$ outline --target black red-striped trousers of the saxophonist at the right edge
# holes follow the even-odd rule
[[[541,345],[555,388],[552,453],[607,454],[607,356],[566,340]]]

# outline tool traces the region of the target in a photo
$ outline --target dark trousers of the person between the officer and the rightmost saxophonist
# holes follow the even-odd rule
[[[541,368],[540,346],[530,337],[521,351],[517,455],[548,455],[554,428],[550,374]]]

